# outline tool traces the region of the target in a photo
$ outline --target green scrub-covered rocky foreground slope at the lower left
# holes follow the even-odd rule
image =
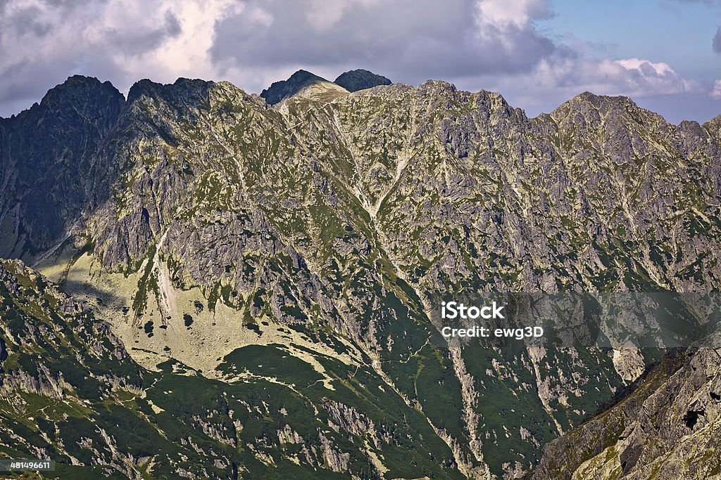
[[[226,356],[225,381],[177,361],[151,372],[19,261],[0,262],[0,299],[0,455],[51,458],[51,477],[461,478],[423,417],[361,368],[319,357],[323,384],[272,345]]]

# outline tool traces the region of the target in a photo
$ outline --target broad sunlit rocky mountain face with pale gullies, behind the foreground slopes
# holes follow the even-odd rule
[[[102,103],[105,86],[84,85],[79,97]],[[442,299],[719,288],[721,119],[675,126],[592,94],[528,119],[439,81],[335,88],[279,86],[269,107],[224,82],[138,82],[70,150],[92,168],[68,174],[76,199],[53,197],[61,227],[4,230],[39,245],[8,255],[85,299],[146,366],[280,382],[328,412],[330,431],[278,424],[265,447],[277,437],[331,471],[362,458],[385,478],[518,478],[655,359],[439,347]],[[2,124],[4,178],[21,175],[22,136],[5,132],[41,113]],[[63,151],[39,158],[62,164]],[[4,218],[35,225],[13,191]],[[404,438],[432,453],[404,469],[386,451]]]

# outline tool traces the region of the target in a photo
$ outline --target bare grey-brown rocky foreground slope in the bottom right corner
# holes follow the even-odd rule
[[[528,478],[718,478],[719,360],[707,347],[666,356],[629,397],[547,445]]]

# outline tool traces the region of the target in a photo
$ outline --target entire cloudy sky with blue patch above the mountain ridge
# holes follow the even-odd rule
[[[260,93],[299,68],[499,91],[529,117],[592,91],[705,122],[721,0],[0,0],[1,117],[75,74]]]

